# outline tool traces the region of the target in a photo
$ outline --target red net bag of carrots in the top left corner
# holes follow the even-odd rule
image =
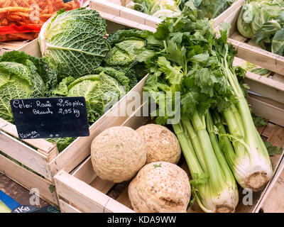
[[[33,40],[55,12],[82,6],[82,0],[0,0],[0,42]]]

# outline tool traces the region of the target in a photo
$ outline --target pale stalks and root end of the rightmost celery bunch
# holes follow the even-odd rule
[[[236,157],[226,155],[226,158],[233,168],[234,176],[241,187],[257,192],[271,179],[273,170],[268,151],[256,131],[249,105],[241,90],[236,74],[234,70],[229,69],[227,44],[225,48],[224,64],[219,65],[238,99],[236,104],[238,111],[229,109],[223,113],[231,134],[228,136],[233,140],[232,144],[236,151]],[[237,127],[238,124],[239,128]],[[243,131],[242,135],[240,135],[241,131]]]

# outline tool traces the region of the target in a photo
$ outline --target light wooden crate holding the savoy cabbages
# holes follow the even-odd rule
[[[109,26],[112,31],[119,28],[120,26],[115,23]],[[16,50],[35,57],[41,56],[38,39]],[[124,111],[128,104],[133,104],[133,96],[136,91],[141,91],[145,80],[146,77],[89,128],[89,137],[77,138],[60,154],[58,154],[57,146],[46,140],[19,140],[16,126],[0,118],[0,151],[2,153],[0,153],[0,172],[27,189],[38,189],[42,199],[57,205],[53,176],[62,169],[67,172],[72,171],[89,155],[87,148],[96,135],[106,128],[121,125],[132,114],[131,111],[134,109],[128,110],[123,117],[113,116],[116,112]],[[18,165],[17,162],[22,165]]]

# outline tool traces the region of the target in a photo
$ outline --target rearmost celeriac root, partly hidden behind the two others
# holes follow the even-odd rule
[[[177,164],[180,160],[180,144],[178,138],[165,126],[148,124],[136,129],[146,142],[147,160],[151,162],[170,162]]]

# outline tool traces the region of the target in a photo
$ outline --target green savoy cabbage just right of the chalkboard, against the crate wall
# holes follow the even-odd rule
[[[129,78],[123,72],[109,67],[98,67],[97,74],[79,79],[66,77],[53,90],[54,96],[83,96],[86,100],[89,123],[94,123],[111,109],[126,92],[129,92]]]

